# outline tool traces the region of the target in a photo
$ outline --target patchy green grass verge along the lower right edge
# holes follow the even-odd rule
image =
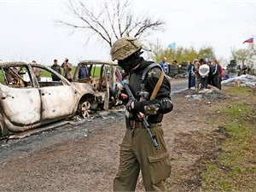
[[[256,99],[246,87],[231,88],[236,102],[218,110],[218,119],[229,137],[220,146],[221,153],[207,163],[202,174],[204,191],[256,191]]]

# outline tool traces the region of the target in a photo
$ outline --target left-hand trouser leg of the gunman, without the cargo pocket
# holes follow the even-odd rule
[[[113,191],[135,191],[140,167],[131,149],[132,132],[127,130],[120,145],[119,172],[113,180]]]

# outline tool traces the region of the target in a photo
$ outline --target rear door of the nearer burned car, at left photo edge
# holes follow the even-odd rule
[[[3,67],[1,77],[6,77],[0,84],[0,105],[7,119],[20,126],[38,123],[41,119],[41,96],[39,90],[32,86],[28,68]]]

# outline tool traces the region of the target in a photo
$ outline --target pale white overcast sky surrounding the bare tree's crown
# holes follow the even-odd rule
[[[65,17],[66,2],[0,0],[0,60],[36,60],[44,65],[65,57],[74,65],[80,60],[109,60],[108,45],[96,39],[85,44],[82,33],[69,35],[67,28],[55,25],[55,20]],[[256,35],[255,1],[135,0],[133,4],[134,12],[166,20],[165,32],[148,38],[153,43],[159,40],[163,47],[212,46],[218,57],[230,60],[231,48],[247,48],[242,42]]]

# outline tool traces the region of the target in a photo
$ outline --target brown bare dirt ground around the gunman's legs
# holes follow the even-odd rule
[[[207,119],[224,98],[187,98],[194,90],[172,96],[174,109],[163,127],[172,158],[169,191],[201,188],[206,160],[214,160],[224,138]],[[122,111],[104,114],[83,125],[64,125],[23,139],[0,141],[1,191],[112,191],[125,133]],[[137,191],[143,191],[142,178]]]

